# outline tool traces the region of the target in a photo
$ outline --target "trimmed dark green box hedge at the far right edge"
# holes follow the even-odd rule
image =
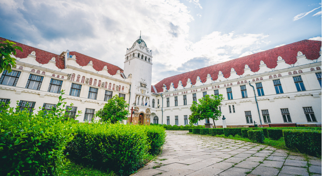
[[[301,153],[321,157],[321,130],[283,129],[287,148],[297,149]]]

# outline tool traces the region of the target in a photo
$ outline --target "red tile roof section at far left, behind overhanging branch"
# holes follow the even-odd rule
[[[0,37],[0,41],[5,41],[7,39],[5,38],[1,38]],[[9,40],[11,41],[11,40]],[[34,48],[34,47],[30,47],[28,45],[24,45],[15,41],[11,41],[17,44],[17,46],[22,48],[21,52],[20,50],[16,50],[17,51],[17,58],[27,58],[29,54],[31,54],[31,52],[35,51],[36,52],[36,61],[38,63],[41,64],[46,64],[49,62],[49,60],[51,60],[52,58],[56,59],[56,66],[60,69],[64,69],[65,68],[65,62],[64,59],[61,59],[59,55],[50,53],[50,52],[46,52],[44,50],[40,50],[38,48]]]

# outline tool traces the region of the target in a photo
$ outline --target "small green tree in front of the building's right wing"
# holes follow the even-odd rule
[[[219,106],[221,101],[223,100],[222,95],[206,95],[205,97],[199,99],[199,104],[197,102],[193,102],[190,111],[192,112],[189,116],[189,120],[192,123],[197,123],[198,120],[209,119],[212,118],[214,121],[221,116],[221,112],[219,111]]]

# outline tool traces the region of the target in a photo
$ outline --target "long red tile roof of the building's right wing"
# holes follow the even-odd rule
[[[191,79],[192,84],[196,84],[197,76],[200,76],[202,82],[206,82],[207,74],[210,74],[213,80],[216,80],[218,77],[218,71],[222,71],[224,77],[228,78],[230,76],[231,68],[234,68],[238,75],[242,75],[244,73],[245,64],[247,64],[253,72],[256,72],[260,69],[259,65],[261,60],[266,63],[268,68],[275,68],[277,66],[278,56],[282,57],[286,63],[294,64],[297,61],[296,57],[298,51],[301,51],[307,59],[314,60],[320,57],[320,48],[321,41],[302,40],[260,53],[255,53],[253,55],[232,59],[226,62],[167,77],[158,82],[155,87],[158,92],[163,92],[163,84],[165,84],[167,90],[169,90],[170,83],[173,82],[174,88],[177,88],[179,80],[182,81],[183,86],[186,86],[188,78]],[[155,92],[153,88],[151,91]]]

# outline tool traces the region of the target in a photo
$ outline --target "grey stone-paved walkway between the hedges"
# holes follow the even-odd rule
[[[135,176],[321,176],[321,159],[273,147],[187,131],[167,131],[166,141]]]

